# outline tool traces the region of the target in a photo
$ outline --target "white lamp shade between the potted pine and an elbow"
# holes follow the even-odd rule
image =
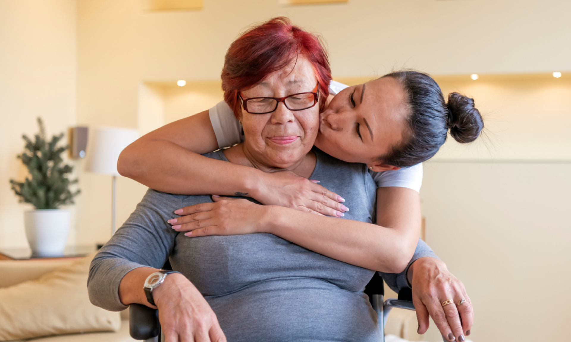
[[[117,160],[121,151],[139,137],[136,129],[100,127],[90,134],[85,169],[119,176]]]

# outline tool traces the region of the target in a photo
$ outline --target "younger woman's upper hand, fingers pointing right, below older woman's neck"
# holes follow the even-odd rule
[[[264,205],[279,205],[334,217],[344,216],[343,213],[349,209],[341,204],[345,202],[343,197],[316,184],[317,182],[297,176],[291,171],[266,173],[252,197]]]

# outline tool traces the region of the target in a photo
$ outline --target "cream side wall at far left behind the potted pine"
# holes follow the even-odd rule
[[[38,116],[50,137],[76,121],[76,19],[73,0],[0,1],[0,247],[27,246],[22,212],[31,206],[8,184],[26,174],[16,159],[22,134],[38,132]]]

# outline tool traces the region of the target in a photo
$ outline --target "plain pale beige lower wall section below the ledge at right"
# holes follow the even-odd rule
[[[472,340],[569,340],[569,174],[571,163],[425,163],[427,243],[471,296]]]

